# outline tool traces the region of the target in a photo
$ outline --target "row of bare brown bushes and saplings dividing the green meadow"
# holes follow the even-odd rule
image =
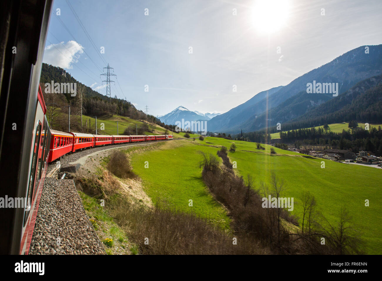
[[[351,225],[346,209],[340,210],[337,221],[333,223],[320,213],[314,196],[304,192],[300,226],[298,219],[286,211],[286,206],[263,206],[263,198],[283,197],[286,184],[282,179],[272,174],[269,184],[261,182],[256,187],[251,175],[246,180],[235,175],[227,149],[217,152],[223,160],[221,166],[213,154],[201,154],[199,167],[203,168],[204,182],[228,209],[231,227],[241,241],[250,239],[278,254],[361,253],[363,242]]]

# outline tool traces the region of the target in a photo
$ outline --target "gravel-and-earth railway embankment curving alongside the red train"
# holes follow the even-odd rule
[[[77,164],[81,166],[76,173],[66,172],[66,177],[71,179],[57,179],[57,174],[53,178],[45,178],[29,254],[137,253],[125,232],[107,214],[105,200],[88,196],[81,191],[81,186],[78,190],[74,181],[82,179],[94,182],[101,179],[104,185],[112,187],[116,180],[107,172],[102,172],[102,164],[110,153],[123,147],[134,150],[153,149],[152,146],[161,146],[164,142],[102,146],[65,155],[60,160],[62,170]],[[48,165],[47,173],[56,164]],[[142,191],[139,180],[124,179],[117,184],[130,198],[152,205],[151,199]]]

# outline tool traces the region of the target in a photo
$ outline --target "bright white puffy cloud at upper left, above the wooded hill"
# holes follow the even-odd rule
[[[61,42],[45,47],[43,62],[57,67],[71,69],[71,63],[78,62],[83,49],[76,41]]]

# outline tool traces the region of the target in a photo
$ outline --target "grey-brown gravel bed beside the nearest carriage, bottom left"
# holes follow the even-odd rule
[[[29,254],[105,254],[73,180],[45,179]]]

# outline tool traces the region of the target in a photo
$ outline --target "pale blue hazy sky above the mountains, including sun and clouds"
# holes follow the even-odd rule
[[[43,62],[101,94],[108,63],[112,96],[155,116],[223,113],[382,44],[381,15],[380,0],[55,0]]]

